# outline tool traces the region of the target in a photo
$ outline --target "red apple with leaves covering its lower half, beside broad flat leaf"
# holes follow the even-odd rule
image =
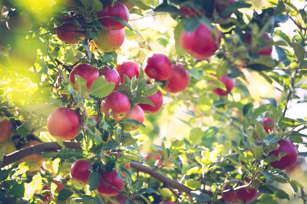
[[[87,91],[90,92],[93,82],[99,77],[99,72],[97,68],[91,64],[79,64],[76,66],[69,74],[69,81],[74,85],[74,89],[77,90],[77,85],[75,84],[75,75],[79,75],[85,79]]]

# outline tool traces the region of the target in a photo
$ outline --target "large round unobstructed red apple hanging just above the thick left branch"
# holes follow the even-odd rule
[[[52,111],[47,119],[49,133],[59,139],[72,140],[79,133],[80,117],[76,110],[60,107]]]

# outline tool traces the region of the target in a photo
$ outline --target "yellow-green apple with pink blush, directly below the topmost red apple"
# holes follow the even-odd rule
[[[97,40],[93,39],[94,45],[102,52],[113,52],[120,48],[125,40],[125,31],[121,30],[102,30]]]

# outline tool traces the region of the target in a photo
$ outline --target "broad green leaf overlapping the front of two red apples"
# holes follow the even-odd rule
[[[108,83],[104,77],[101,76],[93,82],[90,95],[104,98],[112,93],[114,87],[115,83]]]

